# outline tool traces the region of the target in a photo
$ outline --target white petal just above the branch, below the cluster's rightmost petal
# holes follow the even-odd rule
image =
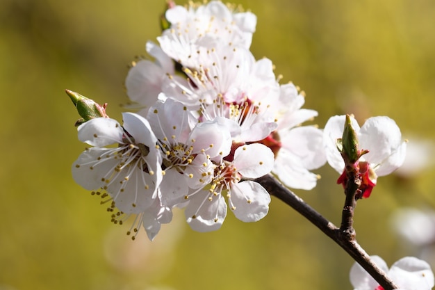
[[[304,168],[302,164],[297,164],[297,162],[300,161],[286,157],[280,160],[277,159],[272,173],[277,175],[279,180],[290,188],[310,191],[316,186],[319,177]]]

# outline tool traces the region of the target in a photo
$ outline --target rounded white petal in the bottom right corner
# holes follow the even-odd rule
[[[430,290],[434,287],[434,273],[426,261],[404,257],[396,261],[388,273],[391,279],[407,290]]]

